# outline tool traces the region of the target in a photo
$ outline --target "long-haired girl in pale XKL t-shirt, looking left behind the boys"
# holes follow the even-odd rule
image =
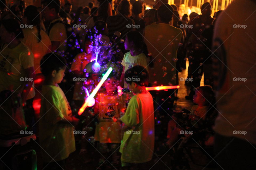
[[[125,38],[125,49],[130,52],[125,53],[121,63],[123,65],[123,72],[120,79],[120,86],[128,88],[128,84],[124,81],[125,71],[135,65],[141,65],[147,69],[147,59],[142,52],[143,37],[138,31],[130,31],[127,33]]]

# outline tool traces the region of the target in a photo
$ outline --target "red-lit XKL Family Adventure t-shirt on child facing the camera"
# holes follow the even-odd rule
[[[100,93],[96,98],[99,124],[94,139],[100,143],[121,143],[120,112],[126,108],[123,96]]]

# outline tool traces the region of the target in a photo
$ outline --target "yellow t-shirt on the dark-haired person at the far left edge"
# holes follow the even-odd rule
[[[14,91],[22,93],[27,80],[25,69],[30,67],[34,67],[34,55],[24,43],[12,49],[5,44],[0,53],[0,92],[13,86]]]

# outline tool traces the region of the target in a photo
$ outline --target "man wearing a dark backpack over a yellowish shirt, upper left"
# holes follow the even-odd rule
[[[46,33],[49,35],[51,40],[51,50],[65,51],[66,50],[66,39],[67,31],[66,25],[63,23],[63,19],[59,16],[61,10],[60,0],[42,0],[42,15],[45,21],[50,22]]]

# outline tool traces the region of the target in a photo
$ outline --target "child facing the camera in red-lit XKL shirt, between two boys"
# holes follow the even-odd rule
[[[118,80],[119,75],[111,72],[103,84],[106,91],[98,93],[94,108],[94,114],[97,115],[99,120],[94,139],[99,141],[99,151],[105,158],[107,158],[108,152],[111,151],[115,167],[120,163],[120,155],[117,149],[122,140],[120,117],[123,116],[126,109],[123,96],[119,96],[117,93]],[[105,161],[102,155],[99,166]]]

